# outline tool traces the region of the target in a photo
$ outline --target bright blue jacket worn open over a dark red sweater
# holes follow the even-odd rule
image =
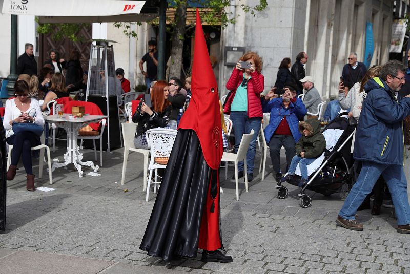
[[[299,119],[303,118],[306,115],[306,112],[308,112],[304,107],[302,100],[296,98],[294,102],[291,101],[288,109],[285,108],[282,98],[275,98],[270,101],[262,98],[261,101],[263,112],[271,113],[269,124],[264,131],[266,141],[269,143],[284,115],[286,115],[286,121],[288,122],[293,139],[295,139],[295,142],[299,141],[301,136],[298,128]]]

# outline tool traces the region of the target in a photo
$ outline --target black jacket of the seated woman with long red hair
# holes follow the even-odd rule
[[[163,112],[155,112],[152,116],[148,113],[141,115],[141,106],[144,101],[138,104],[138,108],[132,116],[132,121],[138,123],[135,137],[144,134],[149,129],[165,128],[168,124],[171,115],[171,106],[167,106]]]

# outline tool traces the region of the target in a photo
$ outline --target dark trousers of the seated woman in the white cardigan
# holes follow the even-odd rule
[[[6,139],[8,144],[13,145],[11,151],[11,165],[17,165],[20,157],[23,157],[23,165],[27,174],[33,174],[31,162],[31,147],[39,145],[40,138],[30,131],[22,131],[11,135]]]

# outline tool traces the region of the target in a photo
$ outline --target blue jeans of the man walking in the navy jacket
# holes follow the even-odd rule
[[[403,166],[380,164],[363,161],[362,169],[352,190],[340,209],[339,215],[343,219],[354,220],[357,208],[369,194],[379,176],[382,175],[390,193],[396,212],[397,224],[410,224],[410,206],[407,198],[407,181]]]

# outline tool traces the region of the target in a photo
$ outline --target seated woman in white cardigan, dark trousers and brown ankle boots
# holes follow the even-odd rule
[[[14,85],[14,92],[16,98],[6,101],[6,112],[3,120],[3,127],[6,130],[6,142],[13,145],[11,165],[7,171],[7,180],[11,181],[14,179],[17,163],[20,157],[22,157],[27,174],[27,190],[35,191],[31,147],[39,145],[40,138],[30,131],[14,134],[12,124],[13,122],[25,123],[30,121],[43,127],[44,118],[38,101],[27,97],[29,85],[25,81],[17,81]]]

